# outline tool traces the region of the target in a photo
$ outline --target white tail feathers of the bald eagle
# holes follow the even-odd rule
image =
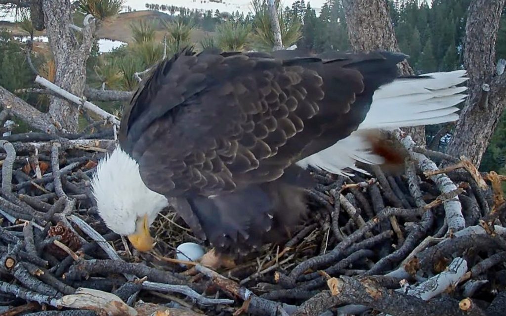
[[[458,120],[456,107],[466,99],[467,87],[455,87],[468,80],[465,70],[427,73],[428,78],[399,78],[374,92],[372,104],[357,131],[297,162],[330,173],[350,176],[350,168],[367,174],[355,163],[379,165],[384,159],[371,152],[366,137],[370,130],[441,124]]]

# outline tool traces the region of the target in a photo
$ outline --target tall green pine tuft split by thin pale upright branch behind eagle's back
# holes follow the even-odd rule
[[[253,19],[252,44],[261,51],[272,51],[274,47],[274,33],[272,31],[269,9],[265,0],[252,0],[251,5],[255,12]],[[289,47],[302,36],[302,24],[297,14],[291,10],[281,7],[280,0],[275,0],[278,13],[279,28],[281,30],[281,41],[284,47]]]

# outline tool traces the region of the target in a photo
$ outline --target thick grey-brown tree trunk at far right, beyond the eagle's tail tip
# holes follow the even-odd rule
[[[476,166],[506,106],[506,74],[495,74],[495,41],[504,1],[473,0],[466,24],[464,67],[469,97],[447,153],[465,155]]]

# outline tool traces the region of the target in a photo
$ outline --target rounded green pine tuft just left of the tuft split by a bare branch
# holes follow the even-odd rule
[[[242,51],[248,42],[251,25],[227,21],[216,27],[217,44],[225,51]]]

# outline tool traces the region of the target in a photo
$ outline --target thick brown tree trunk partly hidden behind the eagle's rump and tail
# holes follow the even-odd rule
[[[386,0],[343,0],[350,46],[355,52],[399,52]],[[414,73],[407,61],[399,64],[402,75]],[[403,128],[418,145],[425,145],[425,127]]]

